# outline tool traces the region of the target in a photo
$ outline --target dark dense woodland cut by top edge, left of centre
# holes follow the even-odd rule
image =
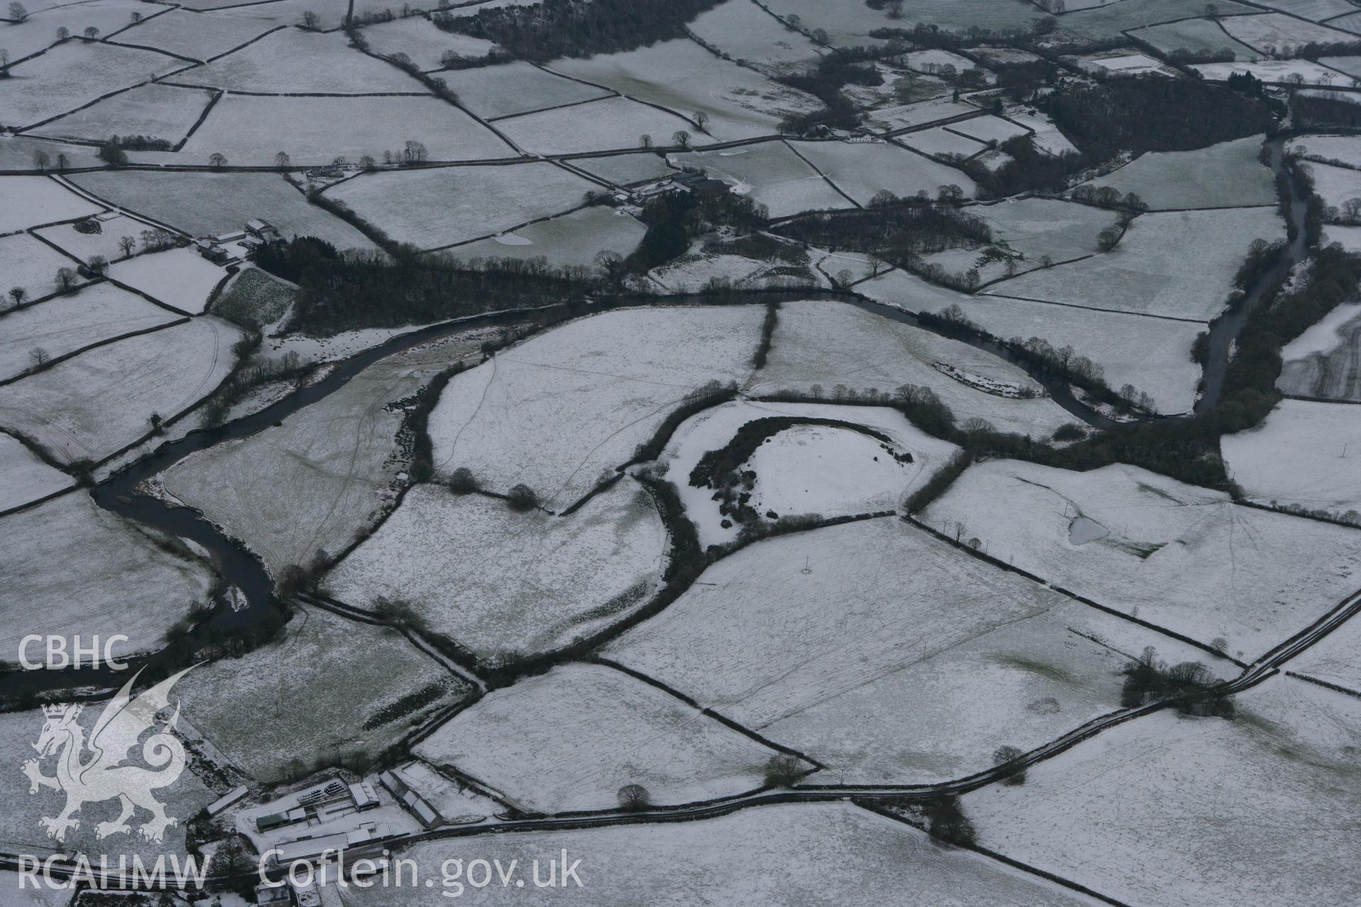
[[[441,14],[446,31],[494,41],[521,60],[591,57],[686,37],[686,23],[717,0],[544,0],[536,5]]]

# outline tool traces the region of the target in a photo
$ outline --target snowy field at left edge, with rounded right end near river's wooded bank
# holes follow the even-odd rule
[[[87,349],[0,388],[0,426],[64,462],[106,460],[150,434],[152,413],[169,419],[212,392],[241,337],[204,317]]]

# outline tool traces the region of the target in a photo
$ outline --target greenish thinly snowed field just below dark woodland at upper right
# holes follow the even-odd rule
[[[1199,151],[1151,152],[1089,185],[1132,192],[1154,211],[1275,204],[1271,169],[1258,160],[1262,137]]]

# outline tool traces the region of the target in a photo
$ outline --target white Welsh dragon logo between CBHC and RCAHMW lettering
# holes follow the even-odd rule
[[[173,785],[185,767],[184,745],[174,734],[167,733],[180,721],[178,703],[170,719],[142,745],[142,757],[151,768],[124,763],[142,734],[157,725],[161,710],[170,707],[166,698],[170,687],[186,670],[189,669],[162,680],[133,698],[132,684],[142,673],[139,670],[103,707],[88,742],[84,738],[84,729],[76,723],[82,711],[80,704],[42,707],[48,721],[42,725],[38,742],[33,744],[38,751],[38,759],[24,761],[23,774],[29,776],[30,794],[38,793],[39,787],[52,787],[67,794],[65,809],[59,816],[44,816],[38,820],[48,829],[48,838],[65,840],[67,829],[80,827],[80,820],[72,816],[80,812],[83,804],[113,798],[118,800],[122,810],[117,819],[95,825],[95,838],[131,832],[128,820],[139,806],[151,813],[151,819],[137,828],[147,840],[159,842],[169,825],[180,824],[177,819],[166,816],[165,805],[151,794],[152,790]],[[84,759],[87,752],[90,757]],[[39,768],[39,759],[53,753],[57,756],[57,774],[54,778],[48,778]]]

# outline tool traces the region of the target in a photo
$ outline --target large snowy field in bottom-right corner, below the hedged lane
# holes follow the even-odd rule
[[[1274,677],[1239,718],[1161,711],[968,794],[979,840],[1127,904],[1343,904],[1361,703]]]

